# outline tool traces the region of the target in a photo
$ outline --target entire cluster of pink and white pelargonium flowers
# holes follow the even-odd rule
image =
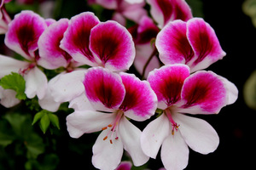
[[[203,71],[225,53],[212,27],[194,18],[184,0],[90,1],[114,11],[105,22],[92,12],[54,20],[29,10],[9,20],[3,2],[4,42],[22,59],[0,55],[0,78],[20,74],[26,98],[38,98],[46,111],[69,102],[72,138],[101,132],[92,147],[96,168],[117,168],[124,150],[134,166],[142,166],[161,146],[164,167],[183,169],[189,148],[201,154],[216,150],[218,133],[188,114],[217,114],[236,101],[238,91],[226,78]],[[134,25],[126,28],[126,20]],[[137,74],[125,72],[131,65]],[[60,68],[55,77],[44,74]],[[1,105],[20,103],[17,93],[0,87]],[[150,117],[143,130],[131,122]]]

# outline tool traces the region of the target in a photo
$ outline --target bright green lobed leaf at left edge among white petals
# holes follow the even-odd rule
[[[15,90],[17,93],[17,99],[26,99],[26,94],[24,93],[26,82],[20,74],[12,72],[11,74],[6,75],[5,77],[1,78],[0,86],[2,86],[4,89]]]

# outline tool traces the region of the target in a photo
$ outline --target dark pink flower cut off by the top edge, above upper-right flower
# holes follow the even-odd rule
[[[150,13],[160,28],[166,26],[172,20],[191,19],[192,13],[188,3],[184,0],[147,0],[150,5]]]

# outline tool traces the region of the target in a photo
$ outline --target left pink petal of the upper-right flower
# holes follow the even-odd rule
[[[194,51],[187,39],[187,24],[175,20],[166,25],[156,37],[155,46],[160,53],[160,60],[165,65],[188,64],[193,59]]]

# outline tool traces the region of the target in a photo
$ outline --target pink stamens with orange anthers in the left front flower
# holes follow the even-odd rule
[[[102,130],[109,130],[107,136],[103,140],[109,139],[110,144],[113,144],[113,138],[115,140],[119,139],[119,122],[121,117],[124,115],[124,112],[119,110],[116,113],[116,117],[112,123],[110,123],[107,127],[102,127]]]

